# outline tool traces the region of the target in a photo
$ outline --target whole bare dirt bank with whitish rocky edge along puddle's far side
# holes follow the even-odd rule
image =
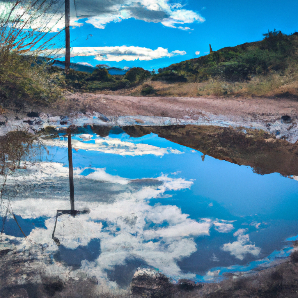
[[[32,113],[33,112],[33,113]],[[268,98],[133,97],[66,94],[52,108],[28,107],[0,115],[0,135],[17,126],[32,133],[46,126],[216,125],[257,128],[298,140],[298,101]]]

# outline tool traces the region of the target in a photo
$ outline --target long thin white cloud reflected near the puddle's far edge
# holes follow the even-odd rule
[[[68,147],[68,143],[65,140],[51,139],[45,140],[46,146],[60,146]],[[119,154],[122,156],[142,156],[153,154],[155,156],[163,156],[164,154],[174,153],[182,154],[183,152],[173,148],[161,148],[153,145],[143,143],[133,143],[128,141],[122,141],[118,138],[111,138],[106,136],[104,138],[96,137],[94,143],[86,143],[76,139],[72,139],[72,147],[83,150],[100,151],[104,153]]]

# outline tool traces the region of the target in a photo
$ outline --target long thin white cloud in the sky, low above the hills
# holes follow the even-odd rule
[[[51,55],[52,51],[44,51],[46,55]],[[133,61],[133,60],[152,60],[163,57],[173,57],[185,55],[185,51],[174,50],[169,52],[168,49],[158,47],[155,50],[142,48],[139,46],[97,46],[97,47],[73,47],[71,48],[71,57],[75,56],[95,56],[94,59],[99,61]],[[56,54],[57,57],[65,55],[65,49],[60,49]]]

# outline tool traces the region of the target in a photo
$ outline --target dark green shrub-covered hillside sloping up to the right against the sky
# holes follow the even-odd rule
[[[298,63],[298,32],[263,34],[261,41],[230,46],[209,55],[186,60],[159,69],[153,80],[202,82],[210,78],[229,82],[250,80],[255,75],[283,75]]]

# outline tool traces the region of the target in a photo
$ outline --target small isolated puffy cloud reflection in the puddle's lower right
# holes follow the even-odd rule
[[[247,229],[238,229],[233,234],[234,237],[237,236],[237,241],[225,243],[223,246],[221,246],[221,250],[224,252],[229,252],[232,256],[235,256],[235,258],[239,260],[243,260],[246,254],[252,254],[254,257],[257,257],[260,254],[261,249],[260,247],[250,243],[249,235],[244,234],[245,232],[247,232]]]

